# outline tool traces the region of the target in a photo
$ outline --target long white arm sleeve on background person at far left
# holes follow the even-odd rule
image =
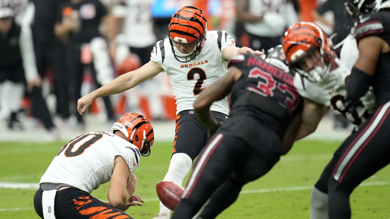
[[[38,76],[38,71],[35,60],[31,29],[27,25],[21,26],[19,44],[25,76],[27,81],[30,81]]]

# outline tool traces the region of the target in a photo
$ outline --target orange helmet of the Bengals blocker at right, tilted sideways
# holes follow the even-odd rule
[[[290,26],[284,33],[282,42],[287,63],[293,74],[298,72],[311,82],[319,82],[330,71],[332,57],[332,41],[325,32],[314,23],[301,21]],[[300,62],[308,54],[313,54],[318,49],[319,57],[310,70],[303,71]]]

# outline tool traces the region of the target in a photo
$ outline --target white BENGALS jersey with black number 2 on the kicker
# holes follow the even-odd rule
[[[169,76],[176,99],[176,114],[193,109],[200,91],[225,74],[228,60],[223,60],[222,51],[229,45],[235,45],[235,42],[225,31],[207,31],[200,54],[184,63],[174,57],[168,38],[154,45],[151,60],[160,64]],[[214,102],[210,110],[229,114],[226,98]]]

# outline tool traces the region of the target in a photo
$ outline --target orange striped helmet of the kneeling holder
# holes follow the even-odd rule
[[[137,146],[142,156],[149,156],[154,142],[152,124],[139,113],[126,113],[111,126],[111,132],[122,132],[127,140]]]

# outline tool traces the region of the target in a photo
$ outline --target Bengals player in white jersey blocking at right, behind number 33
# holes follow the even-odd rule
[[[300,22],[291,26],[287,29],[282,44],[290,69],[295,72],[294,85],[300,95],[312,100],[313,114],[321,115],[324,111],[315,109],[329,106],[342,113],[356,129],[370,118],[375,107],[372,90],[367,87],[361,95],[363,97],[356,101],[354,106],[348,103],[346,97],[344,81],[359,55],[353,36],[349,35],[344,40],[340,59],[332,49],[330,39],[314,23]],[[307,120],[307,126],[300,130],[297,140],[314,132],[321,117],[316,116]],[[349,136],[343,145],[355,140],[356,133],[359,131]],[[342,154],[346,148],[343,145],[336,150],[333,159],[325,167],[313,188],[310,219],[328,218],[328,179],[339,158],[344,156]]]

